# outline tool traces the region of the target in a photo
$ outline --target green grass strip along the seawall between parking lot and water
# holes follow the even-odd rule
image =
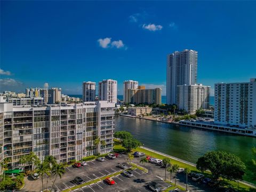
[[[119,140],[115,140],[114,151],[121,152],[121,151],[126,151],[126,149],[121,146],[121,143],[120,143]],[[156,153],[154,153],[152,151],[149,151],[147,149],[142,149],[141,147],[138,147],[135,150],[132,150],[132,152],[134,152],[134,151],[140,151],[142,153],[145,153],[146,155],[149,155],[149,156],[155,157],[155,158],[159,158],[159,159],[166,158],[166,156],[156,154]],[[188,165],[186,163],[179,162],[179,161],[174,160],[174,159],[171,159],[171,164],[177,164],[177,165],[179,165],[180,167],[183,167],[183,168],[188,167],[192,172],[198,172],[198,173],[200,172],[199,170],[196,169],[196,167]],[[204,172],[204,175],[205,175],[205,177],[211,178],[211,173],[210,172]],[[233,187],[233,188],[237,189],[237,182],[234,182],[234,181],[223,180],[222,185],[225,186],[225,187]],[[239,183],[239,189],[238,190],[242,191],[242,192],[246,192],[246,191],[256,192],[256,189],[252,189],[251,187],[249,187],[247,185],[244,185],[242,183]]]

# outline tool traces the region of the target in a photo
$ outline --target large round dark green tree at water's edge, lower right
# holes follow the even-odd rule
[[[196,168],[202,172],[210,170],[214,179],[242,179],[245,165],[239,157],[226,151],[211,151],[198,158]]]

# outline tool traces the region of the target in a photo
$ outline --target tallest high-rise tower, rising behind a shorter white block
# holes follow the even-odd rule
[[[177,86],[197,83],[197,51],[175,51],[167,55],[166,77],[166,102],[177,104]]]

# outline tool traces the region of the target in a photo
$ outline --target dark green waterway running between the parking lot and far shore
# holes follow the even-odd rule
[[[116,116],[116,131],[129,131],[145,147],[192,163],[207,151],[225,150],[248,165],[252,159],[251,148],[256,147],[253,137],[122,116]]]

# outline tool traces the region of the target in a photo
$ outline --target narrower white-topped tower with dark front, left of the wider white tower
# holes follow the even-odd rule
[[[83,82],[83,101],[94,101],[96,93],[96,83]]]

